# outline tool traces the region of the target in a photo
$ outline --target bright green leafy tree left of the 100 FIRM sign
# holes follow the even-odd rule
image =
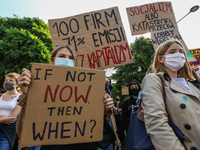
[[[31,62],[50,63],[52,50],[49,27],[42,20],[0,18],[0,84],[6,74],[21,73]]]

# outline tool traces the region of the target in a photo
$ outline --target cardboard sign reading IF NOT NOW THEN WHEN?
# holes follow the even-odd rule
[[[32,64],[21,146],[103,138],[105,72]]]

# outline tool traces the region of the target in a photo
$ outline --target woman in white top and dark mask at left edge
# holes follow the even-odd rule
[[[18,73],[9,73],[3,83],[3,94],[0,94],[0,149],[11,150],[16,137],[16,121],[21,107],[17,104],[20,97]]]

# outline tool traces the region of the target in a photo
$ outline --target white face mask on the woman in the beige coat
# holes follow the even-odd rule
[[[181,53],[174,53],[170,55],[165,55],[165,66],[172,71],[178,71],[185,64],[185,55]]]

